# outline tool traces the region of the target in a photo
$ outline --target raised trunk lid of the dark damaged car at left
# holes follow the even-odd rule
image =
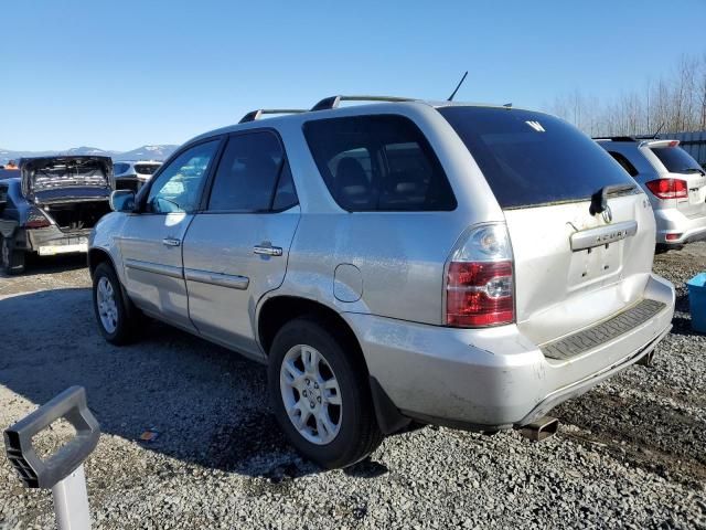
[[[20,160],[22,193],[36,204],[108,200],[109,157],[42,157]]]

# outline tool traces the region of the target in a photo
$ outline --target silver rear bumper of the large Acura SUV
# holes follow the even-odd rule
[[[569,360],[546,358],[516,326],[454,329],[371,315],[344,317],[371,377],[406,416],[492,431],[531,423],[651,352],[671,328],[674,287],[652,275],[650,320]]]

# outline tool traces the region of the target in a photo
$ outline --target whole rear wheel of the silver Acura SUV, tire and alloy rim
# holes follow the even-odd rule
[[[275,417],[292,445],[332,469],[368,456],[383,435],[362,360],[328,329],[311,317],[282,326],[270,348],[268,380]]]

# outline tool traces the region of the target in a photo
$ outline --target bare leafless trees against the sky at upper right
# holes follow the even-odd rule
[[[706,52],[683,55],[668,76],[646,81],[613,100],[603,103],[576,89],[556,97],[547,110],[590,136],[706,130]]]

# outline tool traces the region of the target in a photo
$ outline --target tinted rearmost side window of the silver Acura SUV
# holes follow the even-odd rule
[[[439,211],[456,199],[431,146],[408,118],[353,116],[304,124],[329,191],[347,211]]]

